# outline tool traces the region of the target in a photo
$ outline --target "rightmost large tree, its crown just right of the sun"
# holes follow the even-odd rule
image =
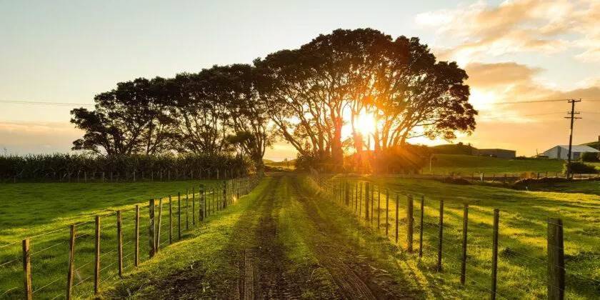
[[[451,140],[456,131],[474,130],[477,111],[469,104],[466,72],[454,62],[436,61],[419,39],[390,41],[375,66],[365,77],[362,102],[376,119],[376,151],[418,136]]]

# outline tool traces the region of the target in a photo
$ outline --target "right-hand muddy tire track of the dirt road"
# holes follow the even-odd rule
[[[339,239],[341,235],[335,232],[334,225],[319,216],[314,199],[306,196],[298,178],[291,181],[292,194],[298,197],[310,221],[319,229],[311,247],[347,299],[412,299],[401,292],[401,286],[389,274],[375,271],[377,269],[370,264],[359,261],[354,250]]]

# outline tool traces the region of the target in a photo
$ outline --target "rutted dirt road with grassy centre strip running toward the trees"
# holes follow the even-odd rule
[[[149,289],[154,298],[176,299],[413,299],[386,264],[387,254],[356,234],[352,220],[335,216],[330,201],[294,174],[274,174],[236,219],[207,267],[166,276]],[[314,186],[313,186],[314,188]],[[337,218],[337,219],[336,219]],[[341,221],[342,220],[342,221]],[[217,260],[218,261],[218,260]],[[198,271],[201,270],[201,271]],[[211,286],[214,289],[206,289]],[[161,291],[154,294],[154,291]],[[167,291],[167,292],[164,292]]]

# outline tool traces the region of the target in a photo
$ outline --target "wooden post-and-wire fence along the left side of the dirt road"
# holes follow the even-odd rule
[[[106,211],[94,219],[0,246],[2,299],[72,299],[98,294],[142,261],[184,239],[206,217],[234,204],[256,176]],[[144,237],[146,236],[146,237]]]

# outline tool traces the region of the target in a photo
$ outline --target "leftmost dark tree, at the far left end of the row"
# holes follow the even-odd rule
[[[94,111],[71,111],[71,123],[85,134],[74,150],[101,155],[159,154],[168,151],[176,134],[164,103],[165,79],[119,82],[116,89],[94,97]]]

